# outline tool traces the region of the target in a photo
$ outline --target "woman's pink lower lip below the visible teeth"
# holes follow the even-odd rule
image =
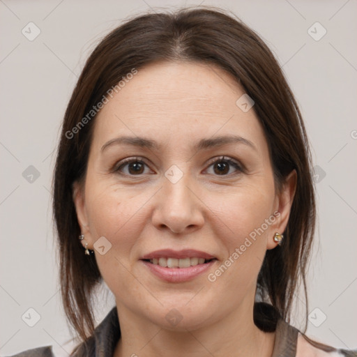
[[[208,263],[189,266],[188,268],[165,268],[157,264],[151,264],[149,261],[141,261],[150,269],[151,273],[167,282],[188,282],[206,272],[215,263],[215,260],[211,260]]]

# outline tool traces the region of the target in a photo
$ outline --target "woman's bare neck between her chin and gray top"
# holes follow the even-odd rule
[[[137,317],[129,310],[118,308],[121,339],[114,357],[162,356],[201,357],[270,357],[275,333],[264,333],[255,326],[251,309],[230,312],[209,326],[180,331],[167,330],[151,321]],[[132,333],[135,331],[135,333]]]

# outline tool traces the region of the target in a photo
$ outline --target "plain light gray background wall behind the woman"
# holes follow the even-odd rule
[[[310,265],[307,335],[356,348],[356,0],[202,3],[231,10],[266,40],[301,105],[314,165],[326,173],[317,177],[319,247]],[[70,335],[58,292],[50,188],[59,126],[86,57],[128,15],[198,4],[0,0],[2,355],[45,344],[56,356],[70,351],[63,344]],[[41,31],[33,41],[22,34],[29,22]],[[318,41],[307,32],[315,22],[327,31]],[[316,37],[322,29],[310,31]],[[32,183],[22,176],[30,165],[40,172]],[[101,321],[114,298],[102,294],[98,301]],[[33,327],[22,321],[30,307],[41,317]],[[293,321],[298,327],[303,307]],[[314,326],[323,314],[326,321]]]

